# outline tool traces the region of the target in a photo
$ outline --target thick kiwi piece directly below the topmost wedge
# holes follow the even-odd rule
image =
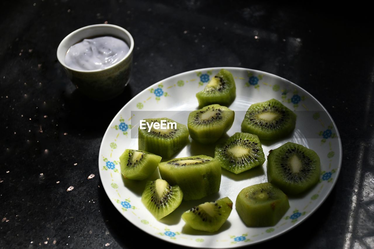
[[[202,144],[216,142],[234,122],[234,111],[221,105],[208,105],[192,111],[188,116],[188,132],[192,139]]]

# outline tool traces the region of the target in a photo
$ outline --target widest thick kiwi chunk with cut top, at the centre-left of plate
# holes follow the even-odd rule
[[[183,200],[197,200],[217,193],[221,185],[220,162],[204,155],[172,159],[159,163],[162,179],[179,185]]]

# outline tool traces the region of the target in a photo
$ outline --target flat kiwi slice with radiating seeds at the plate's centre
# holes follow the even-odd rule
[[[258,136],[244,132],[236,132],[226,142],[217,145],[214,158],[221,162],[221,167],[235,174],[263,165],[265,162]]]

